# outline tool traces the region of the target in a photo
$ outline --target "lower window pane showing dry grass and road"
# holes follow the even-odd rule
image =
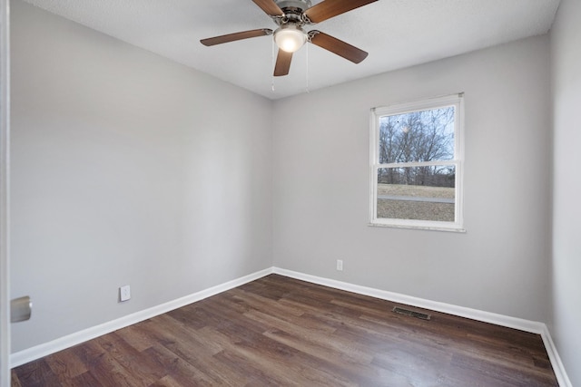
[[[378,169],[377,217],[453,222],[456,168]]]

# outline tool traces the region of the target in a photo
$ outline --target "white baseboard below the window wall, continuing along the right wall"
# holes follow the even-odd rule
[[[559,386],[573,387],[566,374],[565,367],[561,362],[561,358],[556,352],[555,343],[553,343],[551,334],[549,334],[547,324],[539,323],[536,321],[529,321],[517,317],[511,317],[504,314],[484,312],[478,309],[471,309],[464,306],[440,303],[438,301],[431,301],[410,295],[401,295],[399,293],[388,292],[386,290],[379,290],[372,287],[353,285],[334,279],[323,278],[320,276],[311,276],[304,273],[281,269],[280,267],[273,267],[272,273],[300,279],[312,284],[334,287],[336,289],[357,293],[359,295],[369,295],[371,297],[379,298],[382,300],[389,300],[399,304],[416,306],[422,309],[429,309],[446,314],[454,314],[460,317],[482,321],[484,323],[497,324],[500,326],[506,326],[508,328],[518,329],[520,331],[530,332],[532,334],[539,334],[543,339],[545,348],[547,349],[548,358],[551,362],[551,365],[553,366],[553,371],[555,372],[556,380],[559,383]]]

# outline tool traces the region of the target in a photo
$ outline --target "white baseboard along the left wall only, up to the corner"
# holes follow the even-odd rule
[[[177,309],[185,305],[190,305],[196,301],[201,301],[204,298],[208,298],[212,295],[225,292],[226,290],[230,290],[236,286],[247,284],[263,276],[268,276],[271,273],[272,267],[256,273],[252,273],[249,276],[242,276],[221,285],[212,286],[208,289],[204,289],[192,295],[186,295],[162,305],[153,306],[152,308],[145,309],[134,314],[128,314],[116,320],[104,324],[99,324],[74,334],[60,337],[48,343],[43,343],[17,353],[12,353],[10,355],[10,367],[14,368],[19,365],[32,362],[51,353],[56,353],[66,348],[70,348],[76,344],[84,343],[87,340],[102,336],[103,334],[109,334],[118,329],[124,328],[125,326],[137,324],[143,320],[147,320],[148,318],[155,317],[156,315],[167,313],[173,309]]]

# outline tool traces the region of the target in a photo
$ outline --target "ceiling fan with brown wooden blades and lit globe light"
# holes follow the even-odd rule
[[[243,31],[234,34],[214,36],[202,39],[200,43],[211,46],[234,42],[241,39],[273,35],[274,42],[279,47],[274,76],[287,75],[291,68],[292,53],[306,42],[315,44],[336,53],[352,63],[360,63],[367,58],[368,53],[359,48],[340,41],[329,34],[318,30],[305,31],[305,25],[317,24],[331,17],[344,14],[363,5],[378,0],[325,0],[311,6],[310,0],[252,0],[261,7],[266,15],[271,16],[279,28],[272,31],[269,28]]]

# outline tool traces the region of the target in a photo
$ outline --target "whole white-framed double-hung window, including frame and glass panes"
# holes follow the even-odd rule
[[[463,231],[463,95],[371,111],[372,226]]]

